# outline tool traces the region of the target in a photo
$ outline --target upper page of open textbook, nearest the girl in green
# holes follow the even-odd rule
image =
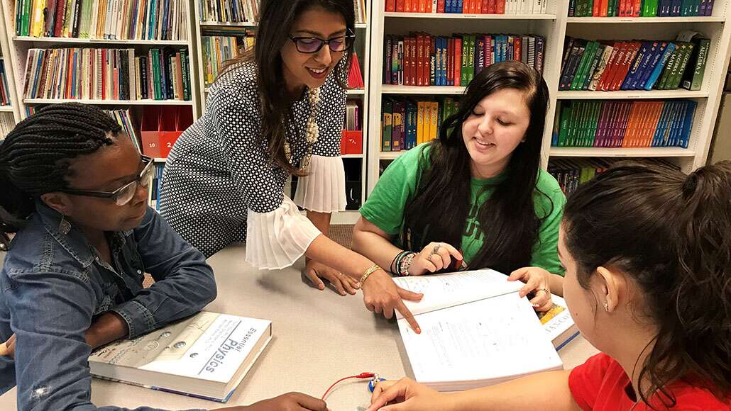
[[[492,269],[451,272],[447,274],[395,277],[393,281],[401,288],[424,293],[421,301],[404,300],[406,308],[413,315],[440,310],[506,293],[515,293],[523,287],[520,281],[508,281],[507,275]],[[396,312],[398,319],[404,318]],[[534,315],[535,316],[535,315]]]

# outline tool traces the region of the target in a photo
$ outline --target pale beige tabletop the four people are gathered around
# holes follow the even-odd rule
[[[340,296],[307,285],[300,270],[259,271],[244,261],[243,245],[233,245],[211,257],[218,298],[206,310],[266,318],[273,321],[274,338],[227,404],[121,383],[93,380],[91,400],[97,407],[219,408],[245,405],[288,391],[322,396],[333,382],[347,375],[376,372],[385,378],[413,377],[398,326],[368,312],[363,296]],[[596,349],[582,337],[559,354],[567,368],[583,363]],[[353,411],[369,404],[367,380],[345,382],[327,396],[333,411]],[[0,410],[15,410],[15,389],[0,396]]]

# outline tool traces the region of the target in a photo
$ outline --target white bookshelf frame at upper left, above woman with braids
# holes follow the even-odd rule
[[[99,1],[99,0],[94,0]],[[18,112],[18,118],[25,118],[28,107],[36,107],[41,104],[53,104],[59,102],[75,101],[85,104],[94,104],[99,107],[110,110],[114,107],[136,107],[135,110],[135,123],[137,127],[140,124],[140,118],[145,106],[183,106],[190,107],[194,118],[200,117],[200,103],[198,102],[198,96],[200,93],[197,91],[197,65],[193,64],[194,55],[196,54],[195,45],[192,36],[192,24],[189,19],[189,2],[181,0],[178,3],[179,12],[181,12],[180,18],[175,20],[175,28],[178,30],[179,39],[108,39],[108,38],[97,38],[95,34],[90,34],[90,38],[79,38],[79,37],[34,37],[34,36],[19,36],[15,31],[15,4],[14,0],[2,0],[0,6],[2,7],[2,27],[0,30],[0,37],[3,42],[3,54],[6,55],[7,72],[9,74],[8,81],[11,82],[14,88],[13,95],[16,96],[14,108]],[[83,3],[82,3],[83,4]],[[92,3],[93,4],[93,3]],[[122,9],[120,9],[120,13]],[[131,19],[129,15],[126,15],[128,19]],[[83,21],[83,20],[80,20]],[[121,19],[120,19],[121,21]],[[134,37],[134,36],[131,36]],[[6,46],[7,45],[7,46]],[[189,76],[189,93],[190,100],[183,99],[166,99],[166,100],[154,100],[154,99],[29,99],[25,98],[23,88],[26,81],[26,62],[29,56],[29,50],[33,48],[42,49],[58,49],[58,48],[107,48],[107,49],[133,49],[135,55],[143,55],[148,50],[153,48],[159,48],[162,50],[163,47],[173,47],[175,50],[186,50],[188,53],[188,61],[186,69]],[[7,48],[7,52],[6,52]],[[181,70],[183,68],[181,67]],[[12,75],[11,75],[12,74]],[[130,93],[133,91],[130,90]]]

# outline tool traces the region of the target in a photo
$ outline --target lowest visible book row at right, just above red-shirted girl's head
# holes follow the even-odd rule
[[[569,196],[576,191],[579,185],[586,183],[596,176],[607,171],[611,166],[626,159],[617,158],[551,158],[548,162],[548,173],[551,174],[564,194]],[[667,161],[664,158],[642,158],[629,161],[644,164],[661,164],[672,169],[680,169],[677,164]]]

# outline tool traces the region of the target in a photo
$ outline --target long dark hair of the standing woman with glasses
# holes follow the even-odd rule
[[[300,15],[320,7],[328,12],[338,13],[345,19],[346,31],[355,34],[355,11],[352,0],[262,0],[259,24],[254,47],[224,64],[221,74],[248,61],[257,65],[257,86],[259,88],[262,118],[262,142],[268,143],[269,158],[289,174],[303,176],[298,167],[292,166],[284,154],[284,142],[291,113],[292,97],[287,94],[282,71],[281,48],[289,42],[292,26]],[[352,62],[352,53],[346,52],[344,61],[337,64],[334,75],[341,88],[348,88],[347,78]]]

